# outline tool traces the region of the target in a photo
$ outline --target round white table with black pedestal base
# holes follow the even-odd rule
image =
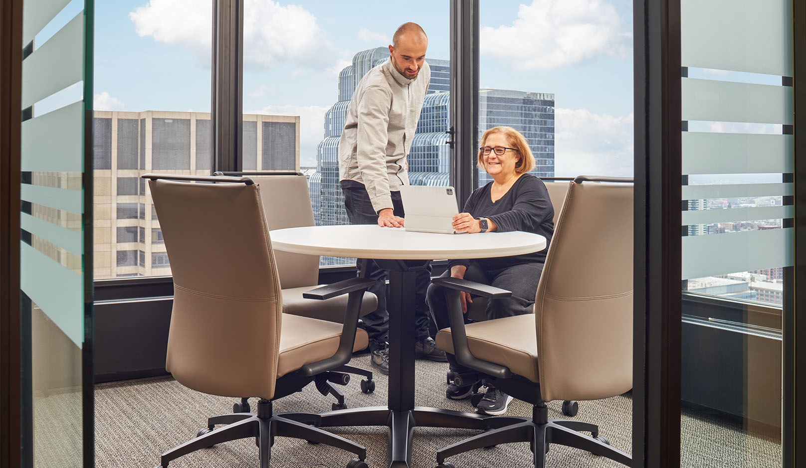
[[[546,238],[526,232],[433,234],[373,225],[305,226],[269,233],[272,247],[297,254],[374,259],[389,271],[388,407],[325,412],[322,427],[388,426],[391,467],[411,466],[414,426],[494,429],[512,423],[484,416],[414,406],[414,284],[432,259],[482,259],[529,254],[546,248]]]

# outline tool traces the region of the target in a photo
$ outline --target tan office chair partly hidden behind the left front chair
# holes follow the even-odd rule
[[[247,176],[260,186],[260,201],[266,216],[268,230],[289,227],[314,226],[314,209],[311,207],[308,182],[305,176],[296,172],[216,172],[217,176]],[[347,296],[336,296],[328,300],[314,300],[303,297],[319,284],[319,256],[293,254],[275,251],[274,258],[280,273],[280,287],[283,289],[283,313],[302,317],[342,323],[347,308]],[[372,292],[365,292],[361,300],[359,317],[378,308],[378,299]],[[340,372],[363,375],[361,391],[375,390],[372,371],[354,366],[344,366]],[[333,383],[318,387],[319,391],[330,393],[337,400],[333,409],[347,408],[344,394]],[[323,394],[324,394],[323,393]],[[234,412],[249,412],[249,403],[242,399],[233,405]]]

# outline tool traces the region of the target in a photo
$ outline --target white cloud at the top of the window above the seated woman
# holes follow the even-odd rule
[[[481,53],[518,70],[557,68],[605,55],[624,58],[631,34],[603,0],[534,0],[509,26],[484,27]]]

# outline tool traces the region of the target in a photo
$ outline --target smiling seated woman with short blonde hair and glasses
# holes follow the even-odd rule
[[[496,126],[484,132],[478,154],[478,167],[484,168],[492,182],[476,189],[464,205],[464,213],[453,218],[457,231],[478,233],[486,231],[521,230],[541,234],[548,249],[554,234],[554,208],[542,180],[527,174],[534,169],[534,155],[526,139],[509,126]],[[490,237],[490,242],[495,242]],[[449,269],[442,276],[464,278],[477,283],[491,284],[507,289],[512,296],[492,299],[487,304],[487,319],[511,317],[532,313],[538,281],[546,261],[546,249],[526,255],[496,257],[492,259],[462,259],[448,262]],[[462,312],[472,297],[467,292],[460,296]],[[426,301],[438,329],[450,326],[443,288],[431,284]],[[468,321],[467,317],[465,321]],[[451,371],[472,372],[447,354]],[[506,395],[487,381],[487,391],[476,404],[480,412],[500,415],[506,412],[512,396]],[[475,392],[473,386],[458,387],[451,383],[445,391],[448,398],[462,400]]]

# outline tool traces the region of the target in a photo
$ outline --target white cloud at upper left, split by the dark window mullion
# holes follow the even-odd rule
[[[246,0],[243,10],[243,63],[266,67],[293,63],[309,68],[332,65],[333,44],[316,17],[301,6]],[[210,64],[212,8],[196,0],[150,0],[129,14],[141,37],[183,44],[200,64]]]

